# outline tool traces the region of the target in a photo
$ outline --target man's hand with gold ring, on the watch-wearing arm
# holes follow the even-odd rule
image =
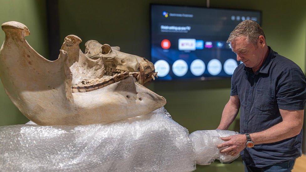
[[[217,148],[224,148],[220,150],[220,153],[225,155],[236,156],[245,149],[246,137],[245,134],[232,135],[229,137],[220,137],[222,140],[226,141],[217,146]]]

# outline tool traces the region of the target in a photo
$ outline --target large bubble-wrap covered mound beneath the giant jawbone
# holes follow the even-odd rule
[[[1,171],[193,171],[194,155],[164,108],[108,125],[0,127]]]

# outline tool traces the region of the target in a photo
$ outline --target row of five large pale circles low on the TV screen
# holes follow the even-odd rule
[[[170,65],[166,60],[157,60],[154,64],[155,71],[158,72],[159,77],[165,77],[170,72]],[[234,59],[227,59],[223,64],[223,70],[228,75],[233,75],[234,70],[238,66],[237,61]],[[203,60],[196,59],[190,64],[190,71],[194,76],[203,75],[206,70]],[[210,75],[216,76],[222,70],[222,63],[218,59],[212,59],[207,64],[207,70]],[[188,65],[185,60],[176,60],[172,65],[172,72],[175,76],[184,76],[188,71]]]

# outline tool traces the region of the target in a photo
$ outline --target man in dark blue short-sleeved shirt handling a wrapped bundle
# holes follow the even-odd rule
[[[291,171],[302,154],[305,76],[297,64],[267,46],[255,21],[238,24],[227,42],[243,64],[232,76],[218,129],[228,129],[240,108],[241,134],[222,138],[226,142],[218,148],[232,156],[241,152],[245,171]]]

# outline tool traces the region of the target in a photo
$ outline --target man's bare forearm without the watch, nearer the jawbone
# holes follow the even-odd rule
[[[226,103],[223,112],[220,124],[217,129],[227,130],[230,124],[235,120],[239,112],[239,106],[231,104],[230,102]]]

